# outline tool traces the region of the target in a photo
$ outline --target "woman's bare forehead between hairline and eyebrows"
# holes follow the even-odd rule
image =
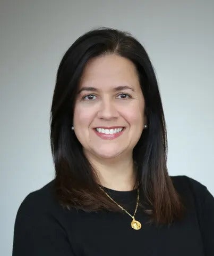
[[[84,67],[80,86],[85,83],[118,85],[118,82],[137,83],[138,73],[132,61],[118,55],[102,55],[90,59]]]

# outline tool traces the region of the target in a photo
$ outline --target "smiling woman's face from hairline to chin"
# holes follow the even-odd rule
[[[73,119],[85,156],[132,157],[144,124],[144,98],[134,64],[118,55],[89,60]]]

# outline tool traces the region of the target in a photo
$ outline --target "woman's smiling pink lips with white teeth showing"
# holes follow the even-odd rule
[[[122,135],[125,130],[124,127],[114,126],[114,127],[96,127],[93,129],[95,133],[104,140],[113,140],[120,135]]]

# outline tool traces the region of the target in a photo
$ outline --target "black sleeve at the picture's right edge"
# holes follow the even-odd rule
[[[205,256],[214,255],[214,197],[206,186],[189,178],[194,193]]]

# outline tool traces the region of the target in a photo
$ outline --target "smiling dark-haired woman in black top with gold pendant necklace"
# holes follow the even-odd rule
[[[67,50],[50,138],[56,177],[22,202],[13,256],[214,255],[214,199],[169,177],[157,80],[129,33],[91,30]]]

